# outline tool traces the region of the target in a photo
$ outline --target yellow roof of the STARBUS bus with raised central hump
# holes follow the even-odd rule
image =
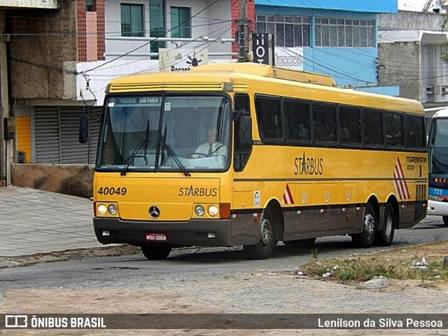
[[[278,81],[281,80],[281,81]],[[283,81],[286,80],[286,81]],[[336,87],[331,76],[306,71],[295,71],[255,63],[216,63],[195,66],[185,72],[153,72],[115,78],[111,80],[106,93],[131,93],[148,91],[227,91],[229,85],[260,81],[260,93],[269,92],[272,85],[291,85],[307,90],[309,98],[339,104],[354,104],[365,107],[391,109],[424,114],[423,106],[414,99],[360,92],[353,88]],[[319,87],[319,90],[314,90]],[[261,92],[262,91],[262,92]],[[288,89],[288,92],[293,92]],[[321,97],[325,97],[322,99]],[[304,97],[301,97],[304,99]]]

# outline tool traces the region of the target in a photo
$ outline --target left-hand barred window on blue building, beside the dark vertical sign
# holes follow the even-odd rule
[[[309,47],[310,20],[301,16],[255,15],[257,33],[271,33],[279,47]]]

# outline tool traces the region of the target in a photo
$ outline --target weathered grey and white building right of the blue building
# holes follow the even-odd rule
[[[400,97],[419,100],[427,127],[434,113],[448,106],[448,66],[442,59],[448,52],[446,19],[433,11],[379,15],[379,82],[400,87]]]

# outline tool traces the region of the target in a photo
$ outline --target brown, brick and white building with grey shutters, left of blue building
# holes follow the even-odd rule
[[[15,125],[11,164],[3,169],[6,183],[43,188],[60,182],[36,165],[48,170],[94,163],[97,121],[111,78],[159,71],[162,50],[183,50],[163,59],[181,70],[193,59],[200,65],[235,57],[235,1],[60,0],[57,5],[5,11],[9,71],[3,73],[9,78],[8,122]],[[248,9],[253,15],[253,2]],[[87,144],[78,141],[83,113],[91,120]]]

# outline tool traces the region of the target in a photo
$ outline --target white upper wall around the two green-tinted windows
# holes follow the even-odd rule
[[[192,38],[200,38],[200,40],[195,42],[167,42],[167,48],[197,48],[197,50],[207,48],[209,63],[231,62],[232,43],[229,40],[233,36],[231,31],[232,15],[230,11],[230,0],[218,1],[210,6],[213,2],[208,0],[166,1],[165,18],[167,21],[167,31],[171,29],[170,7],[189,6],[191,8],[191,15],[195,16],[192,19]],[[85,76],[76,76],[78,100],[84,99],[89,104],[94,104],[95,106],[102,105],[104,101],[104,90],[111,79],[133,73],[159,71],[159,60],[151,59],[149,55],[149,1],[132,0],[132,3],[144,6],[146,38],[121,38],[120,1],[106,1],[106,60],[80,62],[76,64],[76,71],[78,73],[85,73]],[[210,7],[204,10],[207,6]],[[113,40],[111,38],[118,39]],[[167,38],[171,38],[171,34],[168,33]],[[219,38],[223,40],[221,42],[211,42],[211,40],[217,40]],[[135,51],[131,52],[132,50]],[[130,52],[129,55],[125,55],[128,52]],[[214,55],[214,53],[218,55]],[[88,88],[86,85],[87,80]]]

